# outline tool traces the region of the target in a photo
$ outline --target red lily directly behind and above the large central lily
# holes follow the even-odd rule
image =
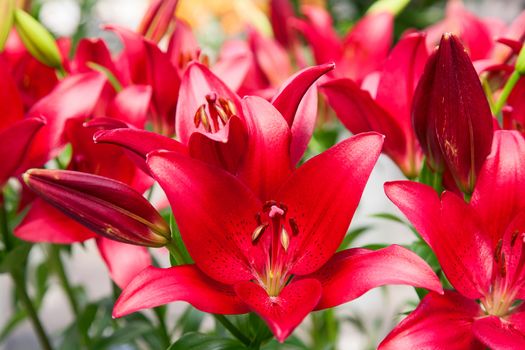
[[[182,151],[186,145],[184,153],[238,175],[265,198],[304,153],[316,117],[317,94],[311,86],[331,69],[333,64],[309,67],[290,77],[272,106],[257,97],[241,101],[209,69],[195,62],[183,76],[176,115],[182,145],[146,131],[125,129],[100,132],[96,142],[120,144],[143,159],[155,150],[152,147]],[[261,163],[260,155],[271,152],[274,159]],[[262,168],[267,168],[264,174],[268,176],[260,172]]]

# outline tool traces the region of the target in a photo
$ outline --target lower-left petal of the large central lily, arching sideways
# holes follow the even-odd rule
[[[113,317],[174,301],[186,301],[201,311],[215,314],[243,314],[248,311],[233,288],[212,280],[195,265],[168,269],[151,266],[122,291],[113,308]]]

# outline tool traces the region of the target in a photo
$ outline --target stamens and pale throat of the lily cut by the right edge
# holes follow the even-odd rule
[[[524,237],[525,233],[514,231],[510,237],[506,237],[510,241],[500,239],[496,245],[491,290],[481,299],[481,304],[489,315],[501,317],[512,311],[517,293],[525,282]],[[508,271],[509,267],[513,271]]]

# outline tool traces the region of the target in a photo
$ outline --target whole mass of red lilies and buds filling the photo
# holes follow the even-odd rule
[[[21,221],[3,222],[0,262],[18,239],[94,239],[122,289],[113,317],[185,301],[255,313],[280,342],[313,311],[410,285],[422,299],[380,349],[525,348],[525,14],[450,1],[393,45],[388,6],[341,38],[324,9],[274,0],[274,37],[251,27],[210,62],[176,5],[106,26],[114,54],[4,2],[0,184],[17,207],[0,203]],[[354,136],[305,157],[323,101]],[[398,245],[341,249],[381,153],[437,268]],[[161,247],[172,267],[152,266]]]

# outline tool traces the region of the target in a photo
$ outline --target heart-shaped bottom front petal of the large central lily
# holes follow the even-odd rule
[[[275,297],[268,296],[261,286],[253,282],[235,285],[239,298],[266,322],[280,342],[313,311],[321,290],[321,284],[310,278],[292,281]]]

